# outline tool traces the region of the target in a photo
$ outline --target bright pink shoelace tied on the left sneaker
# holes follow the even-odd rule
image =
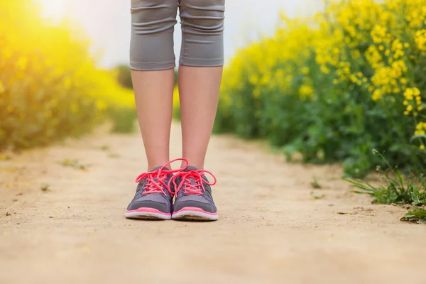
[[[185,167],[178,168],[176,170],[166,169],[168,165],[178,160],[185,162]],[[188,165],[188,161],[182,158],[170,160],[170,162],[166,163],[165,165],[163,165],[163,167],[157,170],[153,170],[152,172],[142,173],[141,175],[138,175],[138,178],[136,178],[135,181],[141,182],[141,180],[146,178],[146,183],[145,183],[145,187],[143,187],[142,195],[148,195],[150,193],[162,193],[163,195],[165,195],[164,188],[167,188],[168,192],[170,192],[170,195],[174,195],[175,193],[170,190],[170,183],[166,184],[165,180],[168,178],[168,175],[173,175],[173,173],[178,173],[178,172],[181,172],[182,170],[185,170],[185,168],[187,168],[187,165]]]

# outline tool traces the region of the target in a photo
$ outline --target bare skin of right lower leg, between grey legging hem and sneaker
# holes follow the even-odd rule
[[[179,67],[182,155],[190,165],[204,168],[219,99],[223,67]]]

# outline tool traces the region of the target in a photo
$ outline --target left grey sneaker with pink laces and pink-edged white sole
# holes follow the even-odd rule
[[[183,160],[183,159],[176,159]],[[148,173],[143,173],[136,178],[138,186],[136,195],[127,207],[124,217],[129,219],[171,219],[173,212],[174,190],[170,188],[173,173],[178,173],[185,168],[170,170],[168,165],[153,168]],[[184,160],[187,163],[186,160]]]

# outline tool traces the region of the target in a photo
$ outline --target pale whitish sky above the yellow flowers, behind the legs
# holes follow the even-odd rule
[[[40,0],[43,15],[59,21],[65,16],[84,28],[92,41],[92,51],[102,50],[101,67],[115,67],[129,61],[130,1],[116,0]],[[272,35],[280,11],[289,16],[312,13],[318,7],[314,0],[265,0],[259,8],[255,0],[232,0],[226,3],[224,50],[226,59],[236,48],[247,45],[260,34]],[[310,5],[307,5],[310,4]],[[319,5],[317,5],[319,6]],[[180,52],[180,23],[175,27],[175,54]]]

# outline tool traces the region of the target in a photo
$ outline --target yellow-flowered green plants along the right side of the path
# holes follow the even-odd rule
[[[267,138],[361,177],[426,165],[426,1],[332,1],[288,19],[226,67],[216,131]]]

